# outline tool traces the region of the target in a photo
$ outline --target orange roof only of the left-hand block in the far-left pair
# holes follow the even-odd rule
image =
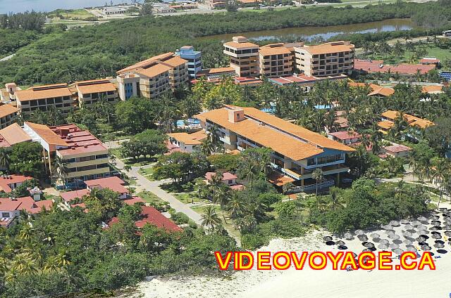
[[[27,90],[16,91],[17,101],[33,101],[35,99],[72,96],[67,84],[34,86]]]

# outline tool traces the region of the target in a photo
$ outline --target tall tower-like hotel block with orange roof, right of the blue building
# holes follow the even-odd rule
[[[259,46],[247,41],[246,37],[233,37],[223,44],[225,53],[230,57],[238,77],[257,77],[259,75]]]

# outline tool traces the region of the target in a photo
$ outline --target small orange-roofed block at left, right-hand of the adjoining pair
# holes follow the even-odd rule
[[[90,81],[82,81],[71,84],[77,94],[78,105],[91,105],[99,100],[108,101],[110,103],[117,101],[118,90],[109,79],[93,79]]]

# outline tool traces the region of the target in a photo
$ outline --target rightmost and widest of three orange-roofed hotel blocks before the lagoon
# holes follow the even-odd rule
[[[296,67],[311,77],[350,74],[354,68],[354,45],[333,41],[318,46],[295,47]]]

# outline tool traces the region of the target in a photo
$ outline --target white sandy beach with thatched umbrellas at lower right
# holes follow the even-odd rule
[[[404,226],[400,225],[394,228],[394,231],[402,233],[403,228]],[[376,231],[366,231],[366,235],[378,233],[383,238],[388,235],[385,232],[381,228]],[[426,233],[431,235],[431,232]],[[267,247],[261,247],[259,251],[337,251],[336,245],[324,243],[324,235],[330,234],[327,231],[313,231],[302,238],[275,239]],[[339,239],[334,237],[334,241],[336,240]],[[345,241],[347,250],[351,252],[359,254],[365,248],[357,237],[353,240],[342,240]],[[447,241],[448,238],[445,236],[442,240]],[[377,247],[377,243],[375,244]],[[414,245],[419,246],[418,243]],[[405,249],[404,243],[400,244],[400,248]],[[450,248],[450,245],[445,245],[445,250],[449,251]],[[451,252],[438,254],[436,250],[435,247],[431,250],[435,257],[440,256],[440,258],[434,258],[435,271],[426,268],[424,271],[364,271],[360,269],[348,272],[333,271],[330,266],[323,271],[314,271],[309,266],[305,266],[302,271],[294,268],[286,271],[252,269],[234,273],[230,278],[192,277],[170,280],[155,278],[152,281],[140,283],[135,297],[450,297]],[[393,264],[399,264],[399,261],[394,260]]]

